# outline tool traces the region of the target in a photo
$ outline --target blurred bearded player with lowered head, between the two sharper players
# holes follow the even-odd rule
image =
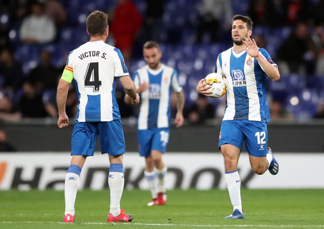
[[[161,64],[162,56],[158,44],[147,41],[143,45],[143,56],[147,65],[138,69],[134,75],[137,93],[141,94],[138,117],[138,147],[140,156],[145,157],[144,175],[152,194],[147,205],[164,205],[167,202],[165,175],[167,167],[162,160],[166,152],[171,120],[171,93],[176,91],[176,127],[183,124],[184,93],[179,85],[178,73],[174,68]],[[125,95],[125,102],[131,98]]]

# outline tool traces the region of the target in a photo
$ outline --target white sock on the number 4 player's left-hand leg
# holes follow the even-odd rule
[[[65,213],[74,215],[74,203],[80,176],[73,172],[67,172],[64,183]]]

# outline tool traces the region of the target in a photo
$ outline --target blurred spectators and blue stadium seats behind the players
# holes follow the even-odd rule
[[[145,65],[143,43],[159,42],[161,61],[179,73],[190,124],[222,117],[225,97],[201,97],[195,87],[232,46],[235,14],[251,17],[252,37],[279,66],[281,79],[268,80],[272,120],[324,118],[324,0],[2,0],[0,120],[57,118],[57,82],[68,53],[89,41],[85,21],[93,10],[109,14],[107,42],[123,53],[131,75]],[[136,117],[118,84],[116,94],[121,116]],[[71,84],[70,118],[76,104]]]

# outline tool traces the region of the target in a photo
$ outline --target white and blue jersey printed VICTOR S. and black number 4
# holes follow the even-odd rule
[[[62,76],[62,79],[69,82],[75,79],[78,96],[77,121],[120,119],[115,78],[127,76],[129,73],[118,49],[102,40],[89,41],[70,52],[65,70],[69,74],[72,72],[72,75],[65,78]]]

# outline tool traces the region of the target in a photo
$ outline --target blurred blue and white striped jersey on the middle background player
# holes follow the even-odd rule
[[[133,80],[136,88],[149,83],[149,88],[141,94],[138,129],[169,127],[172,89],[177,93],[182,90],[177,71],[163,64],[158,70],[145,65],[134,73]]]

